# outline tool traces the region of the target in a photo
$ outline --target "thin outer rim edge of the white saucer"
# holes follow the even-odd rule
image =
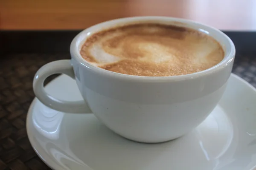
[[[61,77],[61,76],[58,76],[56,77],[55,79],[53,79],[51,82],[49,82],[46,86],[48,86],[50,83],[52,83],[53,81],[55,80],[58,80],[58,78]],[[256,93],[256,88],[253,87],[253,85],[251,85],[249,82],[247,82],[246,80],[244,80],[243,78],[239,77],[238,75],[236,74],[233,74],[231,73],[230,74],[230,77],[234,77],[236,79],[238,79],[239,81],[241,81],[242,83],[244,83],[245,85],[247,85],[248,88],[250,88],[250,90],[253,90],[255,93]],[[229,78],[230,79],[230,78]],[[27,136],[28,136],[28,139],[29,139],[29,142],[33,148],[33,150],[35,151],[35,153],[37,154],[37,156],[48,166],[50,167],[52,170],[67,170],[67,169],[64,169],[63,167],[55,167],[55,166],[58,166],[58,164],[56,165],[51,165],[50,163],[48,163],[49,161],[51,161],[50,159],[49,160],[45,160],[45,158],[43,158],[43,156],[41,156],[41,154],[38,152],[38,150],[35,148],[35,142],[34,140],[32,139],[32,129],[29,128],[29,126],[32,126],[31,125],[31,116],[32,116],[32,110],[33,108],[35,107],[35,102],[37,101],[38,99],[35,97],[31,104],[29,105],[29,110],[27,112],[27,116],[26,116],[26,132],[27,132]],[[38,100],[39,101],[39,100]],[[39,101],[40,102],[40,101]],[[54,161],[52,161],[52,163],[54,164]],[[60,169],[59,169],[60,168]]]

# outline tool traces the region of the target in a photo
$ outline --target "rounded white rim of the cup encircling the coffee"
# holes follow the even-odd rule
[[[108,71],[103,68],[94,66],[81,57],[80,48],[78,46],[80,44],[83,44],[84,41],[80,42],[80,43],[77,43],[77,42],[79,39],[81,39],[81,36],[84,36],[84,34],[86,34],[85,35],[86,38],[90,36],[90,34],[88,34],[88,33],[90,33],[91,31],[88,31],[88,30],[92,30],[94,28],[99,28],[99,27],[104,28],[104,26],[108,25],[108,24],[114,24],[114,25],[118,26],[119,24],[122,24],[122,23],[133,23],[135,21],[147,21],[147,20],[163,21],[166,23],[178,22],[178,23],[182,23],[182,24],[186,24],[186,25],[194,24],[194,25],[198,26],[198,29],[200,29],[200,27],[207,28],[208,30],[214,31],[216,34],[219,34],[220,36],[224,37],[224,39],[227,40],[228,43],[224,44],[224,46],[227,46],[227,44],[230,46],[229,52],[228,53],[225,52],[224,59],[222,59],[221,62],[219,62],[217,65],[214,65],[211,68],[207,68],[206,70],[191,73],[191,74],[184,74],[184,75],[177,75],[177,76],[166,76],[166,77],[147,77],[147,76],[136,76],[136,75],[116,73],[113,71]],[[109,26],[109,28],[111,28],[111,27],[114,27],[114,26]],[[186,27],[186,26],[184,26],[184,27]],[[104,30],[103,28],[100,30]],[[83,40],[86,40],[86,38],[84,38]],[[213,38],[215,39],[215,37],[213,37]],[[96,25],[93,25],[93,26],[90,26],[90,27],[84,29],[79,34],[77,34],[76,37],[74,37],[74,39],[72,40],[72,42],[70,44],[70,54],[73,59],[75,59],[80,64],[84,65],[85,67],[89,68],[90,71],[94,71],[98,74],[103,74],[104,76],[119,77],[119,78],[124,78],[124,79],[131,79],[131,80],[141,79],[141,80],[149,80],[149,81],[151,81],[151,80],[153,80],[153,81],[155,81],[155,80],[179,81],[179,80],[184,80],[184,79],[195,79],[195,78],[202,77],[202,76],[204,77],[204,76],[207,76],[208,74],[212,74],[213,72],[221,71],[223,68],[227,67],[227,65],[230,65],[233,63],[233,60],[234,60],[235,54],[236,54],[236,49],[235,49],[235,45],[234,45],[233,41],[230,39],[230,37],[228,37],[226,34],[224,34],[219,29],[213,28],[212,26],[208,26],[206,24],[198,23],[196,21],[187,20],[187,19],[183,19],[183,18],[161,17],[161,16],[143,16],[143,17],[124,17],[124,18],[119,18],[119,19],[114,19],[114,20],[108,20],[108,21],[98,23]]]

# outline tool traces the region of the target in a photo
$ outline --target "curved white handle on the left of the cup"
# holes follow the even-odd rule
[[[44,105],[57,111],[67,113],[92,113],[84,100],[74,102],[62,101],[47,94],[44,90],[44,80],[52,74],[66,74],[69,77],[75,79],[75,74],[70,59],[49,62],[42,66],[35,74],[33,80],[33,90],[35,96]]]

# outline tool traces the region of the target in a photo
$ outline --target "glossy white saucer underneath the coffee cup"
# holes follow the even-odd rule
[[[46,87],[79,100],[76,82],[60,76]],[[132,142],[93,114],[62,113],[35,99],[27,133],[38,156],[55,170],[252,170],[256,168],[256,90],[232,74],[215,110],[191,133],[165,143]]]

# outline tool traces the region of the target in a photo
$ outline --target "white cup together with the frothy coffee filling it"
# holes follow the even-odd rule
[[[160,16],[120,18],[81,31],[70,44],[71,60],[41,67],[33,90],[49,108],[93,113],[127,139],[165,142],[189,133],[213,111],[235,54],[227,35],[204,24]],[[75,79],[82,100],[47,94],[43,85],[52,74]]]

